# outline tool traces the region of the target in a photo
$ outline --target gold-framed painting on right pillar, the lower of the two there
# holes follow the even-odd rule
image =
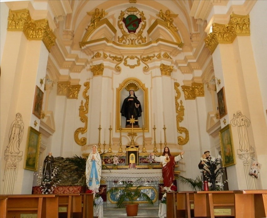
[[[221,156],[223,167],[229,167],[236,164],[234,144],[232,139],[231,125],[226,125],[220,130]]]

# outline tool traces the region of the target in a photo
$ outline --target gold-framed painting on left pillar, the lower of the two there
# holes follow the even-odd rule
[[[29,127],[27,146],[25,152],[24,169],[37,171],[41,133],[33,127]]]

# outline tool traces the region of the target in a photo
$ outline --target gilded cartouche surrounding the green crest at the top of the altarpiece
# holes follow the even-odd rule
[[[128,28],[128,24],[131,23],[128,22],[128,17],[130,16],[134,16],[133,19],[135,19],[135,29]],[[124,24],[128,32],[125,31]],[[141,24],[141,28],[136,33],[135,31],[138,29],[139,24]],[[142,43],[146,43],[146,37],[142,35],[145,27],[146,18],[143,12],[139,11],[135,7],[129,7],[125,11],[121,11],[120,16],[118,17],[118,28],[121,30],[122,36],[118,36],[118,42],[127,45],[140,45]]]

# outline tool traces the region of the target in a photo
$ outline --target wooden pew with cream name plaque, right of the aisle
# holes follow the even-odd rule
[[[234,216],[233,191],[197,191],[194,193],[194,216]]]

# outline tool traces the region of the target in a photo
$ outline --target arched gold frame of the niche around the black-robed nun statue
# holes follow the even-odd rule
[[[123,83],[120,84],[119,88],[116,90],[116,132],[119,132],[120,124],[121,124],[121,91],[123,88],[126,88],[126,86],[129,83],[133,83],[136,85],[137,88],[140,88],[144,92],[144,104],[142,106],[142,111],[144,115],[144,131],[149,131],[149,118],[148,118],[148,88],[145,88],[145,85],[137,78],[128,78],[123,81]],[[142,119],[142,118],[141,118]],[[122,132],[130,132],[131,128],[123,128]],[[135,132],[142,132],[142,128],[134,128]]]

